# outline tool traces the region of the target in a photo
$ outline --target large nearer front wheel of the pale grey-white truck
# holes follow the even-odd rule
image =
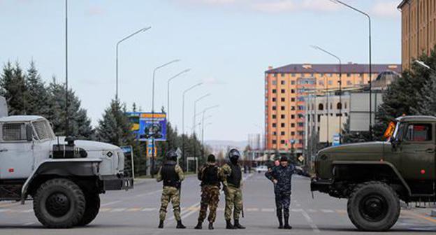
[[[70,228],[78,225],[85,213],[85,195],[71,180],[48,180],[36,191],[34,211],[45,227]]]

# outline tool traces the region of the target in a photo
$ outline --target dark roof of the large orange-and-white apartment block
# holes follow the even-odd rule
[[[342,73],[368,73],[368,64],[342,64]],[[401,73],[401,64],[372,64],[372,73],[395,71]],[[288,64],[266,73],[339,73],[339,64]]]

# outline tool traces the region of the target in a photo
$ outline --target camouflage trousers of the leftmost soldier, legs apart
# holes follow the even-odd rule
[[[160,220],[165,220],[166,208],[170,202],[173,204],[174,218],[178,221],[180,220],[180,191],[176,187],[165,186],[162,190]]]

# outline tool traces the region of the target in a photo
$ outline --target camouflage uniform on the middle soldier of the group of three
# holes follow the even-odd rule
[[[215,167],[216,176],[210,176],[215,178],[215,182],[208,182],[209,177],[205,176],[205,173],[210,172],[208,169],[215,169]],[[198,180],[201,180],[201,206],[200,215],[198,215],[198,222],[203,222],[205,220],[209,207],[208,221],[213,223],[215,222],[215,218],[217,218],[220,188],[219,182],[224,182],[224,174],[222,173],[221,168],[215,166],[215,164],[208,163],[200,172],[198,172]]]

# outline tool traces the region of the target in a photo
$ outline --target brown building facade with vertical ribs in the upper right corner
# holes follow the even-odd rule
[[[436,45],[436,1],[403,0],[401,10],[402,66],[409,69],[413,59],[430,55]]]

